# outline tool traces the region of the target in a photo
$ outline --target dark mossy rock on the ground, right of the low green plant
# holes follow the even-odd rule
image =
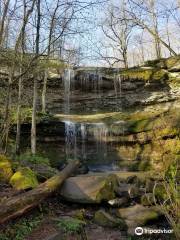
[[[122,219],[114,217],[104,210],[99,210],[95,213],[94,221],[103,227],[117,227],[122,230],[126,229],[126,224]]]

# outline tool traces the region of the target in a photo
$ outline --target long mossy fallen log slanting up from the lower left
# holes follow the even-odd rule
[[[0,223],[20,216],[28,210],[36,207],[45,198],[58,189],[66,178],[79,166],[79,161],[72,161],[61,172],[51,177],[33,190],[18,196],[6,199],[0,204]]]

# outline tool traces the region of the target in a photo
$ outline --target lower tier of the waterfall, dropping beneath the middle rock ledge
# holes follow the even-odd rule
[[[101,160],[107,156],[108,128],[104,123],[65,123],[65,153],[66,159],[87,160],[87,144],[95,143],[93,154]]]

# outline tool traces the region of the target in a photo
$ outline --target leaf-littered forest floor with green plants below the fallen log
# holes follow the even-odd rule
[[[93,216],[105,207],[67,204],[56,194],[26,215],[0,226],[0,240],[174,240],[167,235],[131,237],[118,228],[99,226]]]

